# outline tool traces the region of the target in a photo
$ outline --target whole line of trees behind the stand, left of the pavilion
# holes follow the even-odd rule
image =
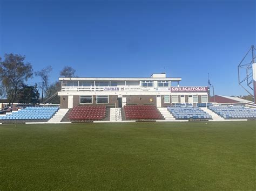
[[[4,54],[4,59],[0,57],[0,97],[6,97],[9,105],[14,102],[24,104],[42,103],[57,91],[60,91],[59,81],[50,82],[51,66],[47,66],[34,72],[30,62],[25,61],[25,55]],[[65,66],[59,73],[60,77],[76,77],[76,70],[70,66]],[[40,84],[29,86],[26,84],[33,76],[38,76],[42,80]],[[41,96],[39,93],[42,92]],[[59,96],[52,98],[51,103],[59,103]]]

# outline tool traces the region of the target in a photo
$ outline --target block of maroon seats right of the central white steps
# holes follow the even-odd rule
[[[162,119],[158,109],[153,105],[125,105],[126,119]]]

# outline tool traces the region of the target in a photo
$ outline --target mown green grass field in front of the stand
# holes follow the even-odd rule
[[[255,190],[256,122],[0,125],[0,190]]]

